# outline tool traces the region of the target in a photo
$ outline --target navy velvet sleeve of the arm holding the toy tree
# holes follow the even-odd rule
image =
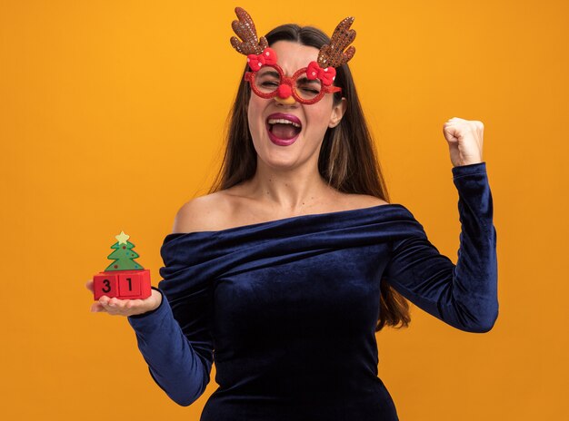
[[[158,284],[160,306],[128,321],[156,384],[175,403],[189,406],[204,393],[214,360],[211,285],[199,267],[187,267],[176,259],[178,253],[166,244],[176,237],[166,236],[161,250],[165,267]],[[172,284],[183,284],[184,289],[173,290]]]

